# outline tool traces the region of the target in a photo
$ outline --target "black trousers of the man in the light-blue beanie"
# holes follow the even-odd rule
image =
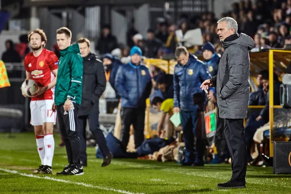
[[[121,134],[120,141],[123,148],[126,150],[126,147],[129,143],[129,131],[130,125],[133,125],[134,128],[134,144],[135,148],[142,145],[145,136],[145,116],[146,108],[121,108],[120,117],[121,117]]]

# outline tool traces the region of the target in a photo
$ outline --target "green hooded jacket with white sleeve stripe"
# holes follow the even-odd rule
[[[72,97],[74,103],[81,104],[82,76],[83,59],[79,45],[61,50],[54,98],[56,106],[65,103],[67,97]]]

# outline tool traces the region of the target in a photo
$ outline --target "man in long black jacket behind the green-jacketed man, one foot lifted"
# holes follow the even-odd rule
[[[110,164],[113,158],[109,148],[106,146],[106,140],[101,129],[99,129],[99,97],[105,90],[106,79],[102,61],[90,52],[90,41],[87,38],[81,38],[79,43],[83,62],[83,87],[81,106],[78,111],[78,133],[81,139],[81,165],[87,166],[86,153],[86,123],[89,120],[89,128],[95,137],[102,154],[102,167]]]

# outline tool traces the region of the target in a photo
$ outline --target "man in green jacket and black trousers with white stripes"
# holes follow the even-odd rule
[[[80,137],[77,113],[81,104],[83,59],[79,45],[71,45],[72,32],[68,28],[57,30],[57,44],[61,50],[55,87],[53,111],[57,111],[60,131],[65,142],[69,165],[57,175],[83,175],[80,164]]]

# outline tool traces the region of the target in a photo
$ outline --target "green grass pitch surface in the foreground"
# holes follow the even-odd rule
[[[291,194],[291,175],[273,175],[271,167],[247,168],[246,189],[219,189],[231,177],[229,164],[181,167],[175,162],[113,159],[101,167],[95,148],[87,148],[83,176],[56,176],[67,164],[65,147],[55,137],[52,175],[32,175],[40,160],[33,133],[0,134],[0,193],[5,194]]]

